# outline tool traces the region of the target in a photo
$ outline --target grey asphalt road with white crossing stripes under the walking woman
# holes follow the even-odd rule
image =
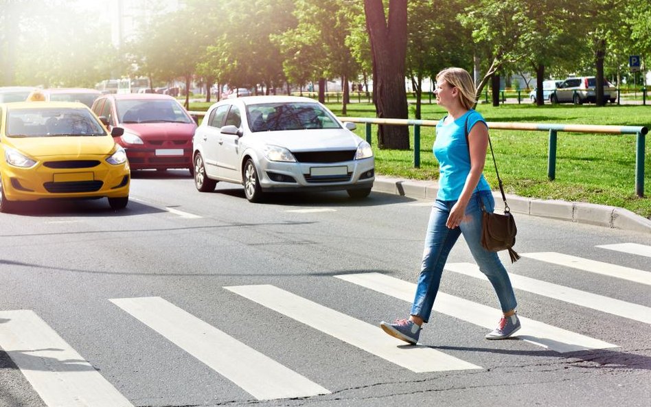
[[[407,317],[429,211],[251,204],[179,170],[135,173],[125,211],[0,214],[0,406],[649,405],[650,235],[516,215],[523,329],[502,341],[459,240],[411,347],[378,323]]]

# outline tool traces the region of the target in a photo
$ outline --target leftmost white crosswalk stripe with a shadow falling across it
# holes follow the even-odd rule
[[[0,311],[0,347],[49,407],[133,407],[33,311]]]

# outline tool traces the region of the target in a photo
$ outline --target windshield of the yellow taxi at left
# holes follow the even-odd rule
[[[29,108],[7,111],[8,137],[106,136],[93,113],[83,108]]]

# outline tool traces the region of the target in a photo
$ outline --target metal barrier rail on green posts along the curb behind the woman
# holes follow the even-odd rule
[[[438,120],[413,119],[376,119],[369,117],[340,117],[341,121],[352,121],[366,125],[366,141],[371,143],[372,124],[390,124],[396,126],[413,126],[413,165],[420,167],[420,128],[421,126],[436,126]],[[549,154],[547,155],[547,177],[550,181],[556,178],[556,140],[558,132],[602,133],[610,135],[636,135],[635,148],[635,194],[644,196],[644,152],[648,128],[643,126],[591,126],[586,124],[536,124],[488,121],[488,128],[495,130],[529,130],[549,131]]]

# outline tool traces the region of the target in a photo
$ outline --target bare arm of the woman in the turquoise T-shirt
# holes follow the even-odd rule
[[[483,121],[477,121],[479,126],[472,126],[468,133],[468,149],[470,150],[470,172],[466,178],[464,189],[461,191],[459,200],[450,210],[450,216],[446,226],[454,229],[464,220],[466,206],[470,196],[477,188],[479,177],[483,172],[483,165],[486,163],[486,149],[488,148],[488,127]]]

